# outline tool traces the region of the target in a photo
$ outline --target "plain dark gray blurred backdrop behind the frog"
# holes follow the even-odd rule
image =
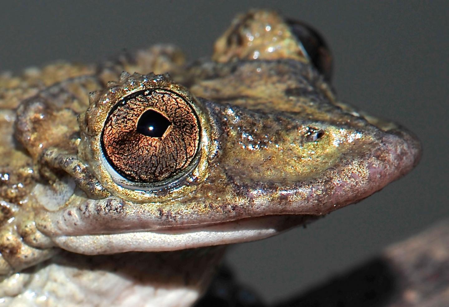
[[[417,169],[361,203],[232,248],[238,278],[273,302],[449,217],[448,1],[3,1],[0,70],[101,61],[153,43],[175,43],[194,60],[211,54],[235,13],[254,7],[319,30],[339,98],[400,122],[424,149]]]

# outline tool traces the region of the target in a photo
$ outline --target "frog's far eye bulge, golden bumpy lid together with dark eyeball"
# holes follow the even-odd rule
[[[312,64],[325,78],[332,74],[332,56],[322,36],[304,22],[275,11],[251,10],[239,15],[217,39],[212,60],[294,59]]]

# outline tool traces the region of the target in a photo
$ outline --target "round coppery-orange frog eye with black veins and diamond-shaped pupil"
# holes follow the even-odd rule
[[[131,182],[128,186],[164,183],[189,169],[199,139],[198,116],[189,101],[156,88],[137,91],[114,105],[101,133],[101,149],[109,166]]]

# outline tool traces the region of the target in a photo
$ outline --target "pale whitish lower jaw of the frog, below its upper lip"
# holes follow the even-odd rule
[[[128,251],[176,251],[260,240],[298,225],[305,225],[317,218],[319,216],[260,216],[182,229],[58,236],[53,238],[53,242],[67,251],[84,255],[114,254]]]

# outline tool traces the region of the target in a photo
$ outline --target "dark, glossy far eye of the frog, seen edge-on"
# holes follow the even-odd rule
[[[326,80],[330,80],[332,55],[321,35],[304,22],[287,19],[286,23],[290,27],[292,34],[303,45],[313,65],[323,74]]]

